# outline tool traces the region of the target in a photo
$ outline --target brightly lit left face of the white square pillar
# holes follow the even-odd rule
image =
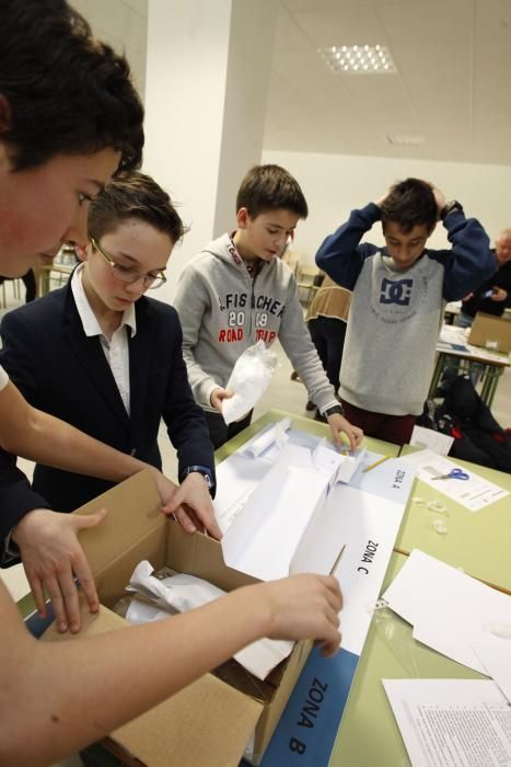
[[[179,204],[190,227],[158,291],[164,301],[213,230],[230,20],[231,2],[149,3],[143,170]]]

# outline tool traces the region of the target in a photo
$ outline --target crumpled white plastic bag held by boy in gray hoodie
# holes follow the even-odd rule
[[[266,348],[264,341],[248,346],[236,360],[227,389],[233,397],[222,401],[222,415],[227,424],[240,421],[263,397],[277,365],[277,355]]]

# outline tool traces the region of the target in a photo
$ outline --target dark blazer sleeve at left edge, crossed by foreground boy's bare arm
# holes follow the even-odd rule
[[[28,373],[31,367],[28,362],[34,350],[31,350],[26,330],[25,323],[19,320],[15,312],[5,314],[0,327],[2,337],[0,364],[9,373],[13,384],[31,401],[33,380]],[[36,364],[36,360],[33,359],[33,364]],[[8,553],[7,538],[20,519],[34,508],[49,508],[49,504],[42,495],[32,490],[27,478],[16,467],[16,458],[5,450],[0,450],[1,566],[19,561],[18,558]]]

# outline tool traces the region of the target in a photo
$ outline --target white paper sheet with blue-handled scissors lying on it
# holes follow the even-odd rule
[[[454,458],[443,458],[433,450],[410,453],[408,456],[403,456],[400,460],[415,466],[417,476],[422,482],[429,484],[433,490],[438,490],[439,493],[448,495],[471,512],[478,512],[490,503],[509,495],[508,490],[499,488],[493,482],[483,479],[475,471],[467,469],[463,469],[463,471],[468,473],[468,480],[433,479],[433,477],[448,474],[452,469],[460,468]]]

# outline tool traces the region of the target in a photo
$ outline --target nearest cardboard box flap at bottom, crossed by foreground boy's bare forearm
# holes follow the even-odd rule
[[[84,610],[82,620],[78,634],[82,639],[130,630],[123,618],[103,606],[96,615]],[[73,634],[58,633],[55,623],[43,636],[43,641],[76,639]],[[137,663],[141,660],[137,659]],[[237,767],[262,711],[260,702],[206,674],[116,730],[112,737],[149,767]]]

